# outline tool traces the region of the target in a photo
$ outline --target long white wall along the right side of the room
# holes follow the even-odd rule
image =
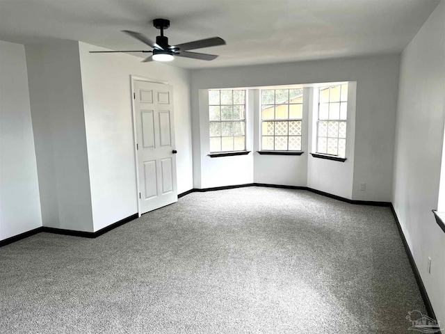
[[[437,318],[445,324],[445,234],[435,223],[444,137],[445,2],[401,56],[392,202]],[[358,130],[358,129],[357,129]],[[428,257],[432,258],[428,274]]]

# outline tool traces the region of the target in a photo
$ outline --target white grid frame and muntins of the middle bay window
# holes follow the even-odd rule
[[[290,90],[292,89],[301,89],[301,97],[302,97],[302,102],[298,102],[298,103],[290,103]],[[273,90],[274,91],[274,103],[273,104],[263,104],[263,91],[264,90]],[[278,103],[276,101],[276,90],[288,90],[288,100],[285,103]],[[301,155],[303,153],[302,151],[302,141],[303,141],[303,118],[304,118],[304,88],[293,88],[293,87],[282,87],[282,88],[261,88],[259,90],[259,99],[260,99],[260,103],[259,103],[259,113],[260,113],[260,130],[259,130],[259,148],[260,150],[258,151],[259,154],[270,154],[270,155]],[[263,119],[263,105],[264,106],[273,106],[274,107],[274,111],[273,111],[273,117],[272,119]],[[277,106],[282,106],[282,105],[286,105],[287,106],[287,118],[276,118],[276,108]],[[290,106],[291,105],[300,105],[301,106],[301,118],[290,118]],[[298,135],[289,135],[289,122],[300,122],[301,125],[301,130],[300,130],[300,134]],[[263,123],[264,122],[273,122],[274,123],[274,131],[273,131],[273,135],[272,136],[268,136],[268,135],[263,135]],[[287,122],[287,134],[286,135],[281,135],[281,136],[286,136],[287,137],[287,150],[275,150],[275,137],[280,135],[276,135],[275,134],[275,123],[277,122]],[[273,150],[270,149],[264,149],[263,148],[263,137],[272,137],[273,138]],[[289,150],[289,137],[300,137],[300,150]]]

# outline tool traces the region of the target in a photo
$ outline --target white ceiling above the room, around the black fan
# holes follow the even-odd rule
[[[145,49],[121,30],[155,39],[152,19],[170,19],[170,45],[219,36],[198,49],[214,61],[175,59],[186,68],[284,63],[400,52],[439,0],[0,0],[0,40],[62,38],[108,49]],[[149,49],[149,48],[148,48]],[[113,57],[113,54],[97,54]],[[142,55],[141,55],[142,56]]]

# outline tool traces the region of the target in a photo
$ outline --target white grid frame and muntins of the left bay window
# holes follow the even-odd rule
[[[221,91],[228,91],[231,90],[232,91],[232,104],[222,104],[221,102]],[[234,104],[234,91],[235,90],[241,90],[244,92],[244,104]],[[208,89],[207,90],[207,96],[209,97],[210,92],[211,91],[218,91],[219,93],[219,104],[211,104],[210,103],[210,98],[208,100],[208,105],[207,105],[207,110],[208,110],[208,115],[209,115],[209,157],[218,157],[218,156],[230,156],[230,155],[242,155],[243,152],[248,152],[247,151],[247,142],[246,142],[246,130],[247,130],[247,101],[248,101],[248,90],[246,89],[236,89],[236,88],[220,88],[220,89]],[[219,120],[211,120],[210,119],[210,107],[211,106],[219,106],[220,109],[220,119]],[[244,106],[244,118],[240,118],[240,119],[234,119],[232,116],[231,120],[223,120],[222,119],[222,107],[223,106],[232,106],[232,115],[233,115],[233,111],[234,111],[234,106]],[[233,123],[234,122],[244,122],[244,128],[243,128],[243,135],[235,135],[234,131],[233,131]],[[211,123],[218,123],[220,125],[220,136],[211,136],[210,133],[210,127],[211,127]],[[232,136],[223,136],[223,127],[221,126],[223,123],[232,123]],[[235,149],[235,138],[236,137],[243,137],[244,138],[244,148],[242,150],[239,149]],[[211,150],[211,138],[220,138],[220,150],[219,151],[212,151]],[[232,148],[233,150],[223,150],[223,138],[233,138],[233,145]],[[240,152],[239,154],[233,154],[236,152]]]

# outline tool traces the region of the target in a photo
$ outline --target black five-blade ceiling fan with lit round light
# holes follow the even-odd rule
[[[175,56],[200,59],[202,61],[212,61],[215,59],[214,54],[200,54],[197,52],[189,52],[188,50],[201,49],[202,47],[216,47],[218,45],[225,45],[225,40],[219,37],[206,38],[205,40],[194,40],[193,42],[186,42],[178,45],[169,45],[168,37],[164,36],[164,29],[168,29],[170,26],[170,20],[168,19],[154,19],[153,26],[156,29],[161,30],[161,35],[156,36],[156,42],[153,42],[149,38],[145,37],[142,33],[136,31],[122,30],[123,33],[127,33],[136,40],[143,42],[144,44],[152,47],[152,51],[147,50],[126,50],[126,51],[90,51],[90,54],[102,54],[110,52],[143,52],[152,53],[152,56],[145,58],[143,63],[148,61],[172,61]]]

